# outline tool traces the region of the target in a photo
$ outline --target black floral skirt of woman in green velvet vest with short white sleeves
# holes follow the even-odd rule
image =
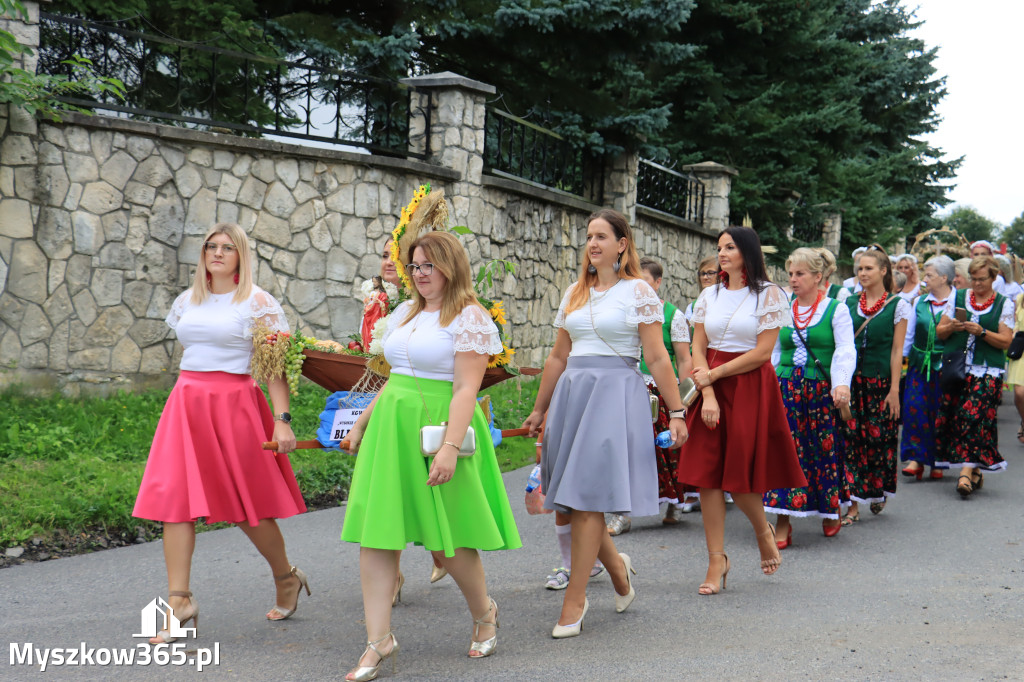
[[[852,476],[850,499],[885,502],[896,495],[896,443],[899,422],[883,412],[889,377],[854,375],[850,386],[853,419],[846,423],[846,468]]]

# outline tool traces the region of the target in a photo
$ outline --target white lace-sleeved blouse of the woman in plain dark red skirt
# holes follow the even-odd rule
[[[790,299],[771,283],[760,294],[746,287],[730,291],[715,285],[700,292],[692,322],[705,326],[709,349],[744,353],[758,345],[761,332],[792,324]]]

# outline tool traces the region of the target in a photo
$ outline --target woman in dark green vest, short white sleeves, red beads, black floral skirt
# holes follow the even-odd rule
[[[903,339],[913,317],[910,304],[895,294],[889,256],[872,244],[860,254],[859,296],[846,300],[853,318],[857,370],[853,375],[847,423],[846,466],[852,476],[852,503],[843,525],[860,520],[858,503],[880,514],[896,495],[896,445],[899,440],[899,379]]]

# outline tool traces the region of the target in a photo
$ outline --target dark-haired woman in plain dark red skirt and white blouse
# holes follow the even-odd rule
[[[690,438],[679,459],[679,480],[700,488],[708,576],[700,594],[725,588],[725,495],[729,491],[757,535],[761,570],[781,563],[775,529],[762,495],[803,487],[782,394],[771,365],[779,329],[790,324],[788,298],[768,280],[761,242],[750,227],[718,238],[720,283],[693,306],[693,381],[700,399],[689,410]]]

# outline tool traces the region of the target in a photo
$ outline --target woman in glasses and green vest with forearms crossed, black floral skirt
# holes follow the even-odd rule
[[[995,415],[1014,325],[1013,301],[993,290],[999,273],[995,259],[976,256],[969,272],[971,289],[950,297],[935,330],[945,341],[946,358],[953,352],[966,353],[965,382],[943,390],[935,422],[939,443],[935,464],[961,467],[956,492],[965,498],[981,488],[983,470],[1007,468],[999,455]],[[966,321],[956,319],[956,308],[967,309]]]

